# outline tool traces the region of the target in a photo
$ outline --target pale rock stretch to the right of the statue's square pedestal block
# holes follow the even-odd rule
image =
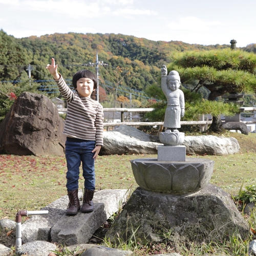
[[[186,146],[186,154],[190,155],[233,155],[240,150],[239,143],[235,138],[207,136],[185,136],[182,144]]]

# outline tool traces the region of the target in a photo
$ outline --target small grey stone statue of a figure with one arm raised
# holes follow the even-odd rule
[[[180,88],[180,76],[177,71],[170,71],[167,76],[167,68],[163,65],[161,69],[161,87],[167,99],[167,108],[164,116],[165,132],[178,133],[180,118],[185,113],[184,94]]]

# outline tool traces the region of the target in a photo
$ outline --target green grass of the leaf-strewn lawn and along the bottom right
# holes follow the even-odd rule
[[[238,139],[241,146],[240,153],[229,156],[188,157],[214,160],[214,173],[210,183],[237,196],[242,184],[244,189],[245,186],[256,183],[256,134],[246,136],[226,133],[225,136]],[[129,188],[132,184],[135,189],[138,185],[133,176],[130,160],[148,157],[157,158],[157,155],[99,156],[95,162],[96,189]],[[16,212],[19,210],[38,210],[66,195],[66,170],[65,157],[0,155],[0,219],[8,217],[15,220]],[[79,187],[83,187],[82,177],[79,179]],[[256,228],[255,218],[252,220],[252,227]],[[244,247],[239,235],[234,237],[234,240],[233,243],[239,248]],[[231,247],[233,248],[234,245],[229,242],[225,246],[223,244],[190,245],[190,247],[186,246],[186,249],[179,248],[179,251],[184,255],[202,255],[201,252],[205,253],[205,251],[209,254],[217,251],[224,253],[225,250],[231,253],[233,250],[230,249]],[[138,255],[144,255],[146,251],[168,251],[167,249],[166,244],[148,245],[148,248],[138,245],[133,247]],[[243,255],[239,253],[233,255]]]

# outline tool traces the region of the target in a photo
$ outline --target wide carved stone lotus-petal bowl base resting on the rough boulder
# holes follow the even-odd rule
[[[201,190],[208,184],[214,169],[214,161],[202,158],[186,158],[184,162],[144,158],[131,163],[133,175],[141,188],[172,195],[193,194]]]

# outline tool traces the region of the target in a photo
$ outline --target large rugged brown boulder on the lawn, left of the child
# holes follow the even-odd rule
[[[24,92],[0,125],[0,153],[63,155],[66,136],[57,107],[44,95]]]

